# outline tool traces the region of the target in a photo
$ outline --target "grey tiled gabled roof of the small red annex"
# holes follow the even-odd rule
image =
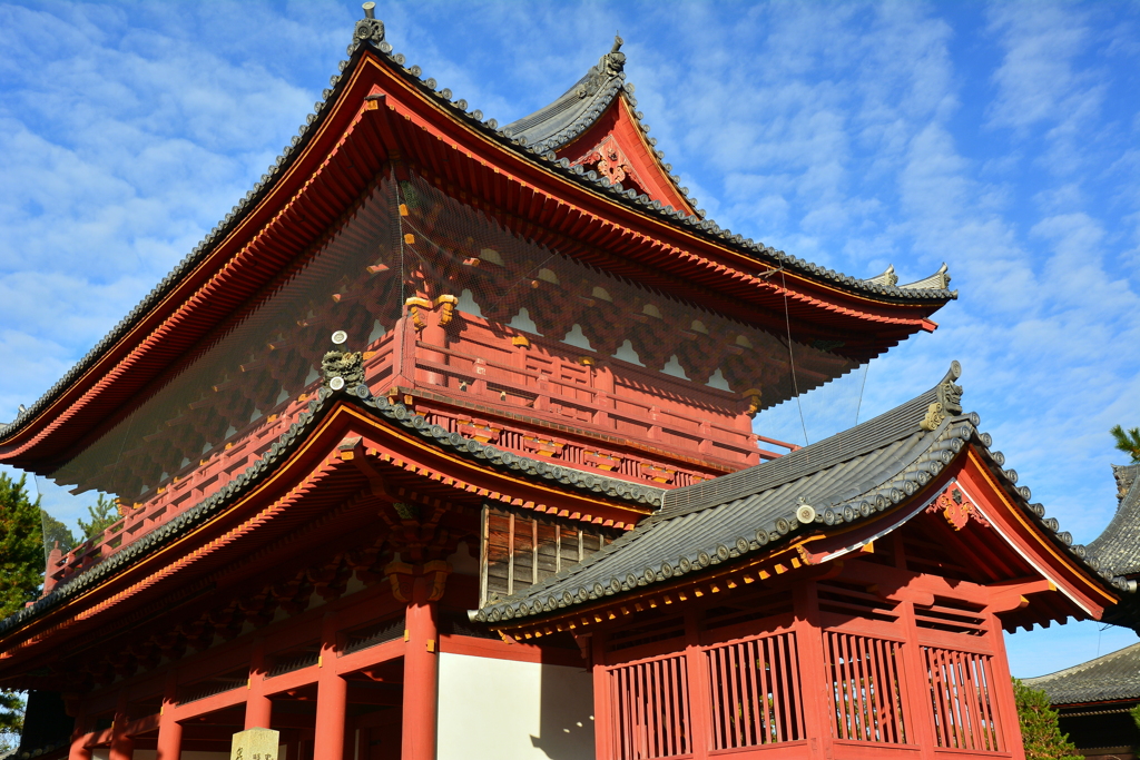
[[[646,586],[665,585],[710,564],[763,556],[800,532],[796,496],[806,497],[799,504],[815,505],[814,528],[845,530],[907,500],[967,443],[987,459],[1013,502],[1076,565],[1114,594],[1127,590],[1124,579],[1102,569],[1085,547],[1073,545],[1056,518],[1044,516],[1042,505],[1029,504],[1029,489],[1016,485],[1017,473],[1002,468],[1004,456],[991,450],[988,433],[978,431],[978,415],[961,414],[955,406],[961,387],[953,381],[959,374],[954,362],[934,389],[871,420],[779,459],[669,491],[659,512],[581,564],[469,614],[492,627],[560,616],[575,612],[571,607],[602,604],[603,597],[608,602],[643,594]],[[944,409],[950,416],[933,422],[935,404],[950,406]]]

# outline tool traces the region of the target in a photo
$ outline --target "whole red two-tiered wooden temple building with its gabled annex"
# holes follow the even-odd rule
[[[620,40],[499,126],[372,16],[292,145],[0,461],[122,518],[0,622],[27,757],[1021,758],[1002,630],[1126,594],[960,370],[752,417],[921,330],[705,219]]]

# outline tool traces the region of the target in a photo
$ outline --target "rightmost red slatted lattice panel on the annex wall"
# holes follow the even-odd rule
[[[994,704],[991,657],[923,646],[922,664],[930,681],[930,711],[938,746],[1004,752],[1005,741]]]

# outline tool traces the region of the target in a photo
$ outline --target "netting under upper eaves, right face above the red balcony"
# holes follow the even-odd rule
[[[521,332],[560,343],[565,357],[606,363],[616,374],[644,368],[712,389],[757,397],[768,407],[838,377],[856,362],[819,345],[773,335],[649,288],[643,269],[604,251],[527,239],[528,220],[502,221],[413,177],[399,183],[406,296],[458,297],[458,310],[503,334]],[[610,259],[612,271],[581,253]],[[782,314],[781,314],[782,317]],[[791,328],[795,335],[795,325]],[[549,344],[544,344],[549,346]],[[795,361],[796,378],[792,378]]]

